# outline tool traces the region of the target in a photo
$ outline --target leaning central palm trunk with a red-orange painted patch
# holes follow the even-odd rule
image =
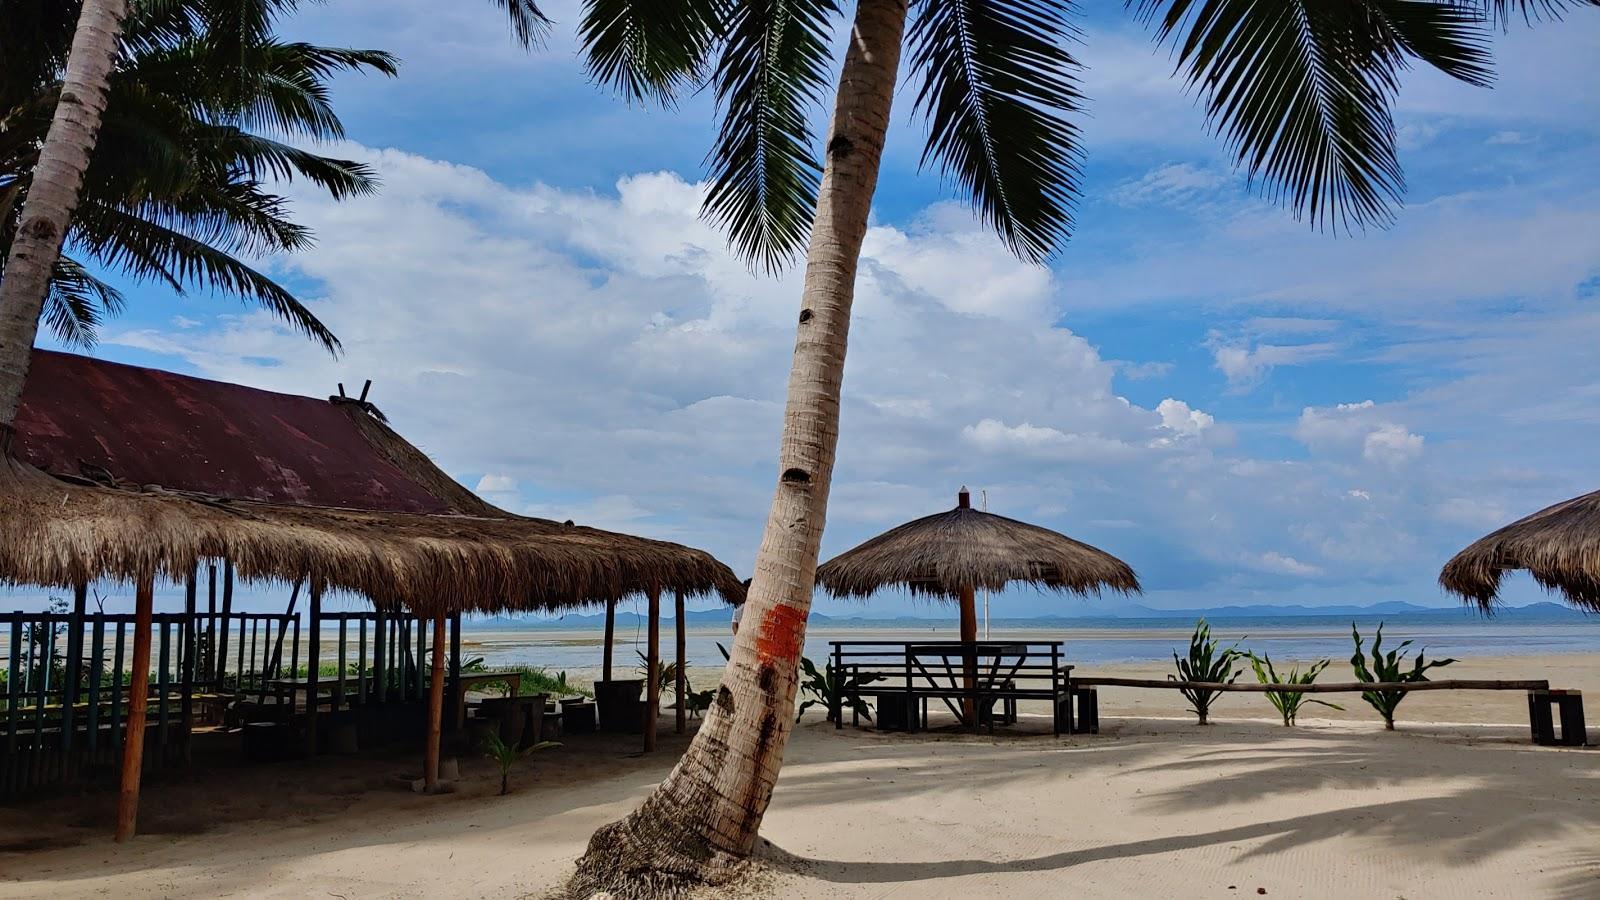
[[[856,5],[806,251],[781,474],[723,684],[667,780],[632,815],[595,831],[568,884],[573,895],[672,895],[736,873],[755,847],[794,725],[838,444],[850,306],[904,30],[906,0]]]

